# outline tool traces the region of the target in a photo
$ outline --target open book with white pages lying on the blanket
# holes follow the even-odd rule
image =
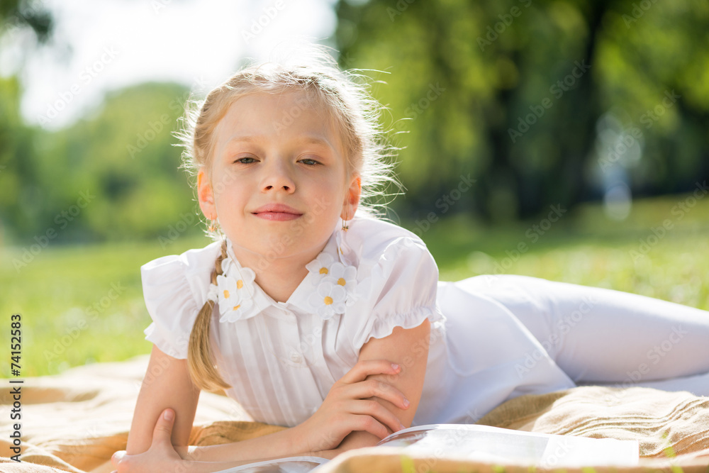
[[[635,440],[573,437],[523,432],[487,425],[419,425],[389,435],[376,444],[402,447],[417,456],[435,455],[497,464],[535,467],[630,467],[638,463]],[[320,457],[287,457],[224,469],[219,473],[317,473]]]

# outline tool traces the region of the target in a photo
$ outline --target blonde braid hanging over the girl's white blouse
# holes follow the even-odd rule
[[[211,277],[212,284],[217,284],[217,276],[222,274],[221,262],[225,257],[226,240],[223,240],[221,254],[214,262],[214,271]],[[230,384],[224,381],[214,366],[209,346],[209,325],[211,324],[214,304],[214,301],[209,300],[202,306],[189,334],[189,347],[187,349],[189,377],[195,386],[205,391],[220,391],[231,387]]]

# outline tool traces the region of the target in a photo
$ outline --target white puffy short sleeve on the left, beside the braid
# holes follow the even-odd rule
[[[160,257],[140,267],[145,306],[152,318],[145,340],[171,357],[187,357],[192,325],[207,300],[217,255],[213,246]]]

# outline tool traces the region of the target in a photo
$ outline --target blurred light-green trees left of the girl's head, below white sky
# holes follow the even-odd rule
[[[19,89],[0,83],[8,123],[0,133],[7,163],[0,179],[0,218],[18,245],[55,233],[52,243],[157,238],[182,219],[196,220],[181,149],[171,132],[188,91],[141,84],[109,94],[91,116],[69,128],[31,130],[18,118]]]

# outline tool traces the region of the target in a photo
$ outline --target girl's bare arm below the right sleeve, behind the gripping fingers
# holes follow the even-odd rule
[[[396,327],[388,337],[371,338],[362,346],[362,350],[359,350],[359,360],[391,360],[401,366],[401,372],[397,376],[374,374],[367,379],[379,379],[406,394],[406,399],[411,403],[406,409],[399,408],[396,404],[391,404],[379,397],[371,398],[379,401],[379,404],[391,411],[404,427],[411,427],[418,402],[421,399],[428,363],[430,331],[431,323],[427,318],[418,327],[408,329]],[[355,430],[342,440],[336,450],[337,452],[346,452],[354,448],[372,447],[379,440],[381,439],[369,432]]]

